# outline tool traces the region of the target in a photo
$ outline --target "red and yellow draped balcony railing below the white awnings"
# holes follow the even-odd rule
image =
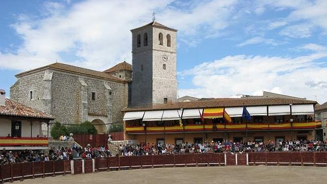
[[[215,128],[214,128],[215,126]],[[313,129],[321,127],[321,121],[316,122],[290,122],[283,124],[211,124],[186,125],[169,127],[146,127],[147,133],[154,132],[196,132],[196,131],[228,131],[228,130],[285,130],[285,129]],[[144,127],[126,127],[126,133],[145,133]]]

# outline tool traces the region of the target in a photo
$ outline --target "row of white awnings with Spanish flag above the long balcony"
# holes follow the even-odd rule
[[[248,106],[246,109],[251,116],[314,114],[313,104]],[[191,118],[222,118],[224,113],[230,117],[242,117],[243,107],[134,111],[126,112],[123,120],[161,121]]]

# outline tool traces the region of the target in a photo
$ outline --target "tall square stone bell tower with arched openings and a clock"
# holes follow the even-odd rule
[[[152,21],[132,32],[133,81],[130,106],[177,99],[177,30]]]

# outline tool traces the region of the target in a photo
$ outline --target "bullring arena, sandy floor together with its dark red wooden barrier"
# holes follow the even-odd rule
[[[0,178],[2,182],[48,184],[307,183],[325,181],[326,166],[327,152],[155,155],[8,164],[1,166]]]

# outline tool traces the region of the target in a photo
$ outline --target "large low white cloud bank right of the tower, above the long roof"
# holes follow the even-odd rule
[[[327,52],[294,58],[226,56],[180,72],[180,76],[192,78],[194,87],[180,89],[179,96],[261,95],[261,91],[268,90],[313,100],[316,95],[322,103],[327,100],[327,68],[318,66],[315,60],[326,57]]]

